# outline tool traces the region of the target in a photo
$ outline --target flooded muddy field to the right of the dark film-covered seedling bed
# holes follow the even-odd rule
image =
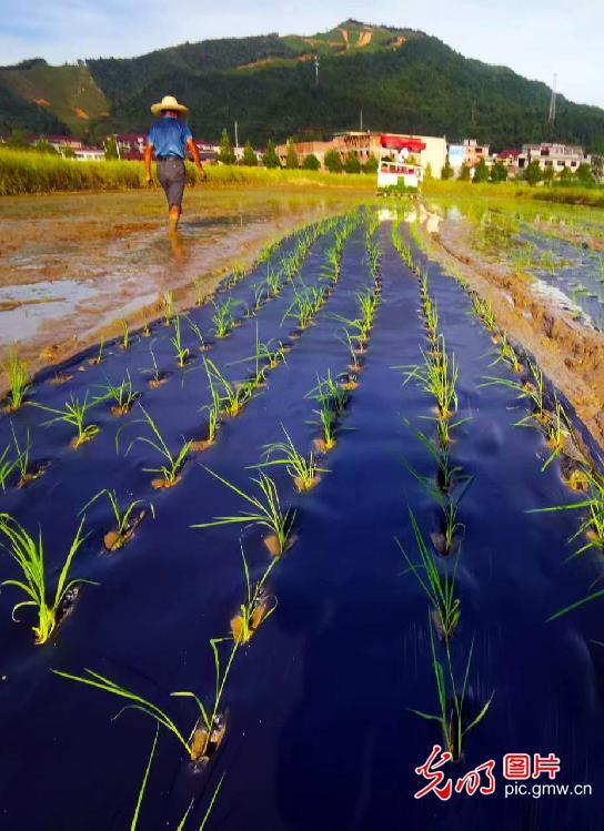
[[[490,302],[604,447],[604,212],[430,199],[417,220],[432,253]]]

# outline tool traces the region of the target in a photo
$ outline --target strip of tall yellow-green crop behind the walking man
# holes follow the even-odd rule
[[[356,188],[371,190],[374,176],[306,170],[266,170],[208,165],[210,188]],[[187,164],[189,184],[201,183],[193,164]],[[56,191],[117,191],[147,188],[142,162],[79,162],[43,153],[0,150],[0,196]]]

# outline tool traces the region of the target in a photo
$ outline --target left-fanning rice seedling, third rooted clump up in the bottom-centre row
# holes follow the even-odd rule
[[[226,482],[226,479],[223,479],[222,476],[219,476],[209,467],[205,469],[251,507],[240,510],[235,516],[214,517],[209,523],[200,523],[191,527],[212,528],[220,525],[258,525],[268,528],[272,533],[265,540],[271,554],[282,554],[290,540],[295,510],[284,510],[281,507],[279,490],[274,479],[261,472],[259,478],[251,479],[258,486],[260,493],[258,496],[251,496],[230,482]]]

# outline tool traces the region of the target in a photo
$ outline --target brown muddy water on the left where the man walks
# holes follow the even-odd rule
[[[293,227],[362,197],[330,191],[188,191],[177,236],[163,193],[73,194],[0,201],[0,349],[39,366],[157,316],[168,290],[194,298],[234,264]],[[144,310],[144,312],[141,312]]]

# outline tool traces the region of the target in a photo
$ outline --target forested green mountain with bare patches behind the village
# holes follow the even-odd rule
[[[358,129],[362,110],[365,129],[445,134],[451,140],[473,136],[499,150],[556,139],[604,151],[604,110],[558,95],[551,128],[545,84],[464,58],[423,32],[354,20],[312,37],[209,40],[71,68],[33,63],[0,69],[0,94],[4,87],[30,104],[44,99],[48,109],[79,133],[145,130],[150,104],[174,94],[191,108],[194,133],[208,139],[217,139],[223,128],[232,135],[235,121],[240,140],[255,144],[289,135],[326,138]],[[67,69],[78,70],[77,81],[69,81]],[[57,81],[51,84],[50,77],[61,71],[59,101],[54,91],[61,88]],[[89,91],[85,105],[74,103],[71,82]],[[54,97],[42,94],[51,87]],[[74,107],[88,119],[73,116]],[[10,114],[10,102],[8,108]],[[0,124],[7,120],[3,111],[0,100]],[[30,126],[24,111],[19,119]]]

